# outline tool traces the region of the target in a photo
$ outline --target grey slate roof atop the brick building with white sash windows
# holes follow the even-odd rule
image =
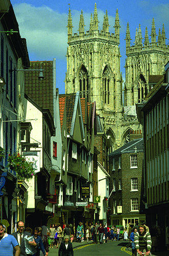
[[[129,141],[125,145],[119,147],[117,150],[113,151],[109,156],[125,154],[125,153],[134,153],[137,148],[138,152],[143,152],[143,138]]]

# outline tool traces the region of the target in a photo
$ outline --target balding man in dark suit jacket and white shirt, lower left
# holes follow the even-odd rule
[[[31,236],[31,233],[24,231],[25,230],[25,223],[23,221],[17,222],[17,228],[18,231],[12,233],[12,236],[17,240],[19,247],[20,247],[20,256],[26,256],[26,249],[25,249],[25,242],[24,237],[26,235]],[[15,255],[15,251],[13,252],[13,255]]]

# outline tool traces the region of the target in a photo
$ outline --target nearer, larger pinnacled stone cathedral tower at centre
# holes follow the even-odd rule
[[[115,33],[109,32],[106,11],[103,29],[99,31],[96,4],[91,14],[89,31],[85,32],[83,11],[79,22],[79,33],[72,34],[72,21],[68,14],[68,48],[65,92],[80,91],[88,101],[96,101],[99,114],[104,111],[122,110],[122,76],[120,74],[119,18],[115,17]]]

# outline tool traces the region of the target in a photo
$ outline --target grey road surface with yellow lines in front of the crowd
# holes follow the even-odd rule
[[[74,243],[74,246],[76,243]],[[81,255],[81,256],[99,256],[99,255],[132,255],[131,249],[127,248],[129,243],[119,241],[119,242],[108,242],[107,244],[81,244],[79,247],[74,248],[74,255]],[[58,255],[58,249],[50,249],[49,256],[56,256]]]

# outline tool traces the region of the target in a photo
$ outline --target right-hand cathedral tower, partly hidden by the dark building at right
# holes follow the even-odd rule
[[[162,75],[164,65],[169,59],[169,47],[165,44],[164,24],[162,31],[159,29],[156,41],[156,28],[153,18],[151,29],[151,42],[146,27],[144,44],[142,44],[141,27],[136,29],[134,45],[130,45],[130,29],[127,24],[126,31],[126,83],[125,83],[125,106],[135,105],[141,102],[151,90],[149,88],[150,75]]]

